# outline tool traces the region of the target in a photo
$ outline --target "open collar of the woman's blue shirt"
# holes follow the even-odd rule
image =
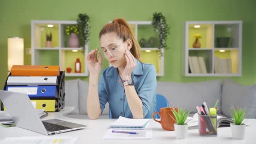
[[[135,69],[132,71],[131,77],[133,77],[133,75],[143,75],[141,62],[139,62],[136,58],[135,58],[135,61],[136,61],[137,65],[136,65]],[[114,75],[116,75],[116,76],[118,75],[118,69],[111,67],[110,70],[106,73],[106,76],[114,77]]]

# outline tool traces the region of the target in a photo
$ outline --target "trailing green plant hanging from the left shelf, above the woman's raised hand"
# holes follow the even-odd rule
[[[90,17],[87,14],[78,14],[77,25],[80,33],[80,46],[85,49],[85,45],[89,42],[90,37],[90,26],[89,26]]]

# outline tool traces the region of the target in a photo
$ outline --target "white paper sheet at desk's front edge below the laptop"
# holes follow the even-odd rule
[[[78,137],[7,137],[1,144],[74,144]]]

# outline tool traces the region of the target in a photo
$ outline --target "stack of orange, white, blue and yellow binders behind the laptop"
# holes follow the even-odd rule
[[[65,71],[55,65],[13,65],[4,90],[27,93],[36,109],[56,112],[65,106],[64,77]]]

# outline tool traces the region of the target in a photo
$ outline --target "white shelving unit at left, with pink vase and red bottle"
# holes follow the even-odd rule
[[[85,57],[89,46],[68,47],[69,35],[65,33],[67,26],[76,25],[76,21],[31,21],[31,63],[32,65],[60,65],[61,71],[71,68],[71,73],[65,73],[65,76],[88,76],[88,69],[85,63]],[[52,25],[52,27],[48,27]],[[45,47],[45,34],[53,34],[53,47]],[[82,70],[81,73],[74,73],[74,63],[79,58]]]

